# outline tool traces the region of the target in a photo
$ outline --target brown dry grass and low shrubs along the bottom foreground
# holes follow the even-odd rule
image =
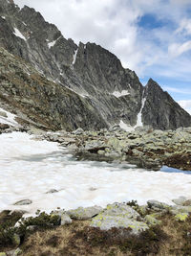
[[[14,223],[9,212],[0,214],[0,223]],[[90,227],[90,221],[73,221],[64,226],[41,226],[27,232],[20,245],[22,256],[189,256],[191,255],[191,217],[178,222],[170,214],[160,217],[162,223],[139,237],[130,236],[129,229],[101,231]],[[0,251],[2,251],[0,246]],[[8,247],[7,247],[8,248]],[[10,247],[11,248],[11,247]]]

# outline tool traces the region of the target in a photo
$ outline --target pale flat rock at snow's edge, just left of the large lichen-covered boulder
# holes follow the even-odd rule
[[[67,211],[66,213],[74,220],[89,220],[99,214],[102,211],[102,208],[99,206],[92,207],[78,207],[75,210]]]

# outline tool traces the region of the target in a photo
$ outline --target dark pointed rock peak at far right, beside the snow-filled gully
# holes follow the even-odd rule
[[[156,81],[148,81],[143,97],[146,99],[142,109],[144,125],[160,129],[190,126],[190,115]]]

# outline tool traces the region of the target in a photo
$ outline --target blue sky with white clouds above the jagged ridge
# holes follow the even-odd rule
[[[114,53],[142,84],[157,81],[191,113],[191,0],[14,0],[76,43]]]

